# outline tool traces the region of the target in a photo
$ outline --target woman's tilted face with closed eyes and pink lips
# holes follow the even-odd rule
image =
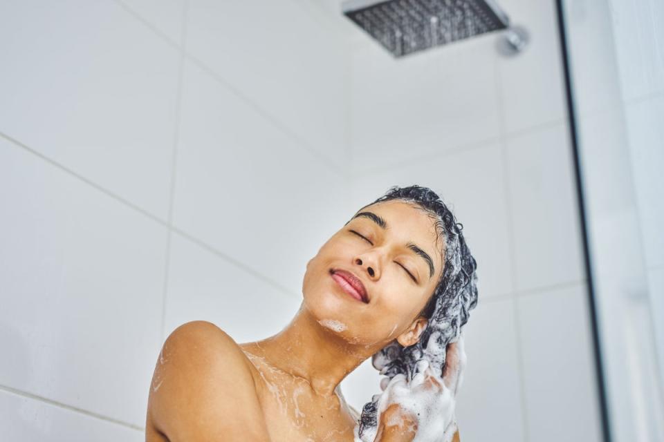
[[[441,244],[434,220],[414,203],[360,209],[306,265],[304,305],[351,343],[387,344],[407,332],[432,295],[442,271]],[[352,295],[344,271],[362,282],[367,299]]]

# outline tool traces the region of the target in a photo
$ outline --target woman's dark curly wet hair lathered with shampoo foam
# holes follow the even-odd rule
[[[418,361],[426,359],[430,367],[442,376],[445,349],[459,336],[461,327],[468,322],[470,309],[477,305],[477,262],[465,244],[461,233],[463,225],[457,222],[434,191],[417,185],[392,186],[385,195],[367,206],[390,200],[411,202],[432,217],[438,238],[444,242],[441,256],[444,256],[445,264],[432,296],[420,313],[420,316],[427,318],[427,326],[418,342],[403,347],[394,340],[372,356],[372,363],[380,374],[390,379],[404,374],[410,381],[417,374]],[[380,394],[374,395],[373,400],[362,407],[360,436],[377,426],[379,397]]]

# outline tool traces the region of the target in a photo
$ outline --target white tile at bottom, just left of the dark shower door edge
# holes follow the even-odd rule
[[[518,300],[528,440],[601,441],[584,284]]]

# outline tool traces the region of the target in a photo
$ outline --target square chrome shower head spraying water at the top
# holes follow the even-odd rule
[[[394,57],[509,26],[493,0],[349,0],[344,15]]]

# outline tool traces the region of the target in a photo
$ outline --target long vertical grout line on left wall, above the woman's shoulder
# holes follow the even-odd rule
[[[172,236],[173,236],[173,207],[175,202],[175,183],[177,177],[177,165],[178,165],[178,145],[180,144],[180,126],[182,118],[182,97],[183,97],[183,87],[184,87],[184,68],[185,68],[185,39],[187,38],[187,12],[189,10],[189,0],[183,1],[182,7],[182,17],[181,17],[181,29],[180,29],[180,41],[182,47],[180,48],[180,61],[178,64],[178,81],[176,85],[176,104],[175,104],[175,122],[174,122],[174,131],[173,131],[173,153],[171,157],[171,182],[169,188],[169,200],[168,200],[168,213],[167,213],[167,225],[168,233],[166,236],[166,259],[164,265],[164,282],[163,282],[163,296],[162,296],[162,306],[161,306],[161,328],[160,336],[162,342],[166,339],[166,309],[168,305],[168,281],[169,281],[169,272],[171,268],[171,248],[172,248]]]

